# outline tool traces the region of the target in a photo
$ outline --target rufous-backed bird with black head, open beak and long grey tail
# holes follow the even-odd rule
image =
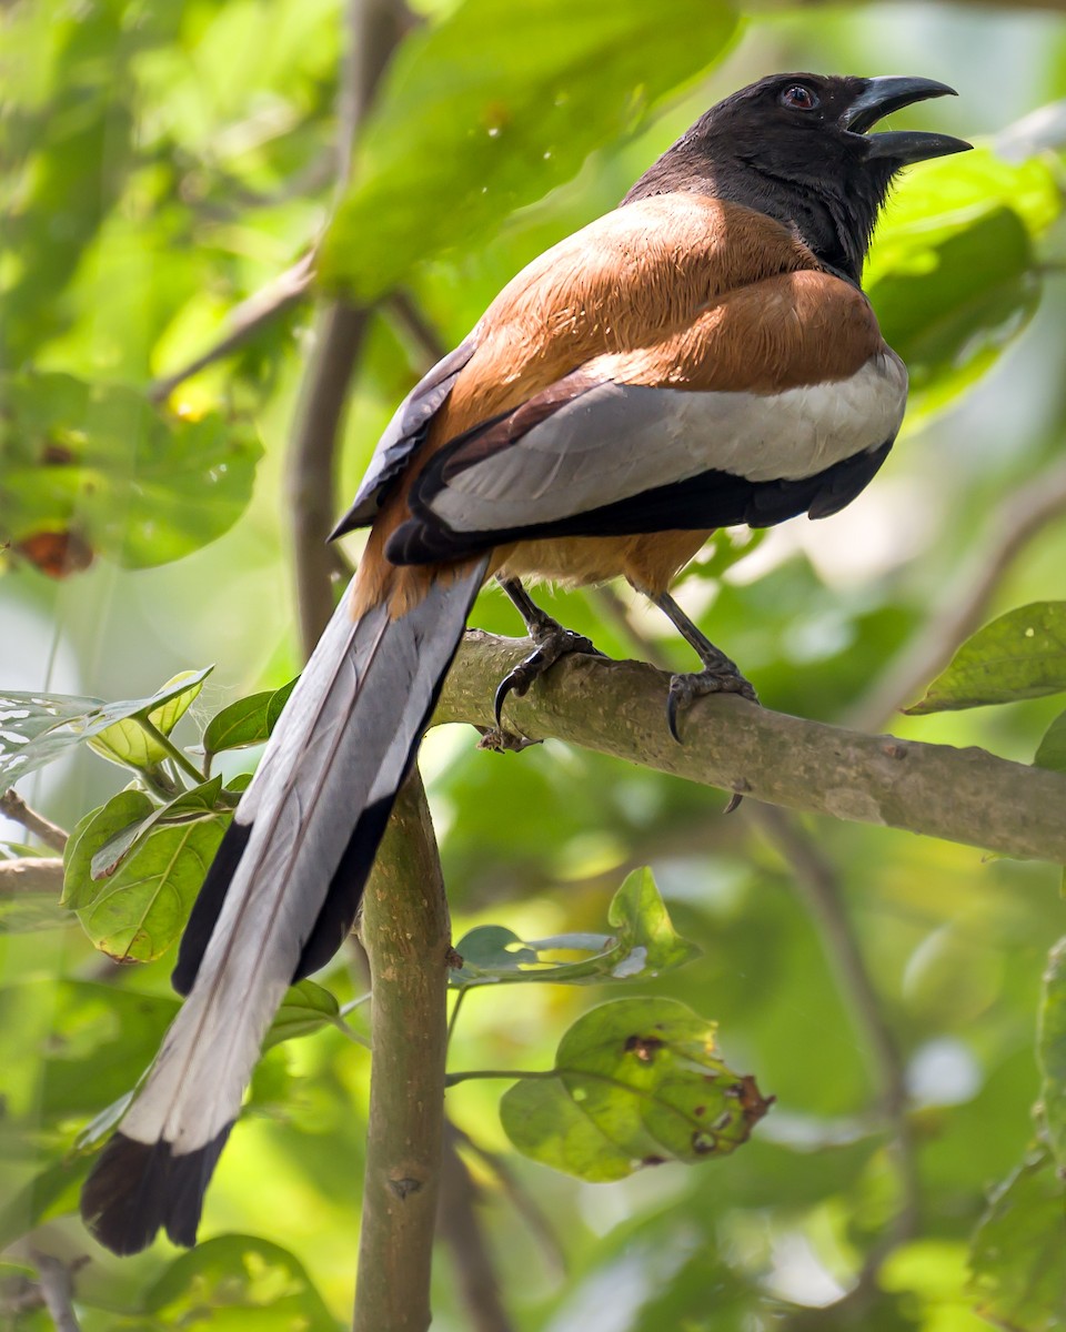
[[[718,527],[850,503],[891,449],[902,361],[862,292],[897,173],[967,149],[874,132],[954,89],[910,76],[772,75],[701,116],[612,212],[534,258],[408,394],[334,535],[368,526],[354,578],[207,874],[173,972],[185,995],[85,1183],[125,1255],[192,1245],[204,1193],[288,986],[350,932],[470,607],[493,575],[529,657],[497,719],[568,650],[533,579],[625,578],[702,670],[754,698],[669,594]]]

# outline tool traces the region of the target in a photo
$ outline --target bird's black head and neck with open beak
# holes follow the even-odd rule
[[[947,135],[867,131],[946,93],[954,89],[931,79],[772,75],[712,107],[625,202],[689,190],[746,204],[785,222],[823,264],[858,282],[895,172],[970,147]]]

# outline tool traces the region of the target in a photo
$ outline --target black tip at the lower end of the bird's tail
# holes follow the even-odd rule
[[[148,1248],[160,1229],[192,1248],[204,1193],[232,1127],[181,1155],[167,1142],[140,1143],[116,1132],[81,1189],[85,1225],[119,1257]]]

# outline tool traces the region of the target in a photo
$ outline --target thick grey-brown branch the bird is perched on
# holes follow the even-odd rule
[[[436,721],[492,726],[496,686],[528,650],[525,639],[468,633]],[[666,682],[641,662],[568,657],[526,698],[508,699],[505,722],[532,739],[556,737],[770,805],[1066,862],[1066,778],[1057,773],[978,749],[862,735],[734,697],[700,699],[678,745],[666,730]]]

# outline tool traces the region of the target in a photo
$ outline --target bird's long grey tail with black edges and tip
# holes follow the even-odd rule
[[[289,983],[354,920],[488,561],[390,619],[344,599],[245,791],[183,939],[189,998],[96,1163],[81,1215],[116,1253],[193,1244],[215,1164]]]

